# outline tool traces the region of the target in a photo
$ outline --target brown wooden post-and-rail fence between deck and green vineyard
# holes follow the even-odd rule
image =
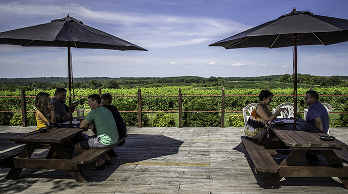
[[[101,88],[98,89],[99,95],[101,95]],[[88,95],[75,95],[72,97],[87,97]],[[182,113],[221,113],[221,127],[225,126],[225,113],[242,113],[243,111],[225,111],[225,97],[226,96],[258,96],[258,95],[225,95],[225,88],[222,88],[221,95],[182,95],[181,88],[179,88],[178,95],[141,95],[140,88],[138,89],[138,95],[113,95],[113,97],[133,97],[138,98],[138,111],[119,111],[125,113],[138,113],[138,127],[142,127],[142,113],[178,113],[179,114],[179,127],[182,128]],[[294,95],[274,95],[274,96],[294,96]],[[305,96],[305,95],[297,95]],[[320,96],[348,96],[348,95],[320,95]],[[141,99],[151,97],[175,97],[179,99],[179,110],[178,111],[142,111]],[[182,98],[185,97],[221,97],[221,111],[183,111],[182,110]],[[22,126],[27,126],[27,115],[26,113],[33,113],[35,111],[26,110],[26,98],[35,98],[35,96],[26,96],[25,91],[21,90],[20,96],[0,96],[0,98],[20,98],[21,99],[21,111],[0,111],[0,113],[17,113],[22,114]],[[87,111],[88,112],[88,111]],[[303,113],[299,111],[298,113]],[[348,112],[330,112],[330,113],[348,113]]]

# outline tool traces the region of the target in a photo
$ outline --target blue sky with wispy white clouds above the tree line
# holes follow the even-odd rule
[[[0,2],[0,32],[69,14],[144,51],[72,48],[74,77],[249,77],[292,74],[292,47],[208,45],[281,15],[348,19],[346,0],[20,0]],[[67,48],[0,45],[0,77],[68,77]],[[298,46],[298,72],[348,75],[348,42]]]

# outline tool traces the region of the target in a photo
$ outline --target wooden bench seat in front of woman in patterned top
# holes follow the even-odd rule
[[[249,139],[242,136],[244,148],[247,150],[255,166],[255,173],[260,176],[269,176],[270,173],[278,173],[279,165],[274,161],[269,152],[256,139]],[[266,175],[265,175],[266,174]]]

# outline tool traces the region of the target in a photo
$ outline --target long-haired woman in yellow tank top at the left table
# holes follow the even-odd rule
[[[34,99],[36,110],[36,130],[46,127],[45,123],[59,122],[60,118],[54,112],[54,106],[50,104],[50,94],[39,92]]]

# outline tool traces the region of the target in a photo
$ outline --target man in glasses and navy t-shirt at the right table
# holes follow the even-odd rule
[[[319,102],[319,94],[314,90],[306,92],[305,104],[308,105],[307,122],[314,125],[324,133],[329,131],[329,114],[327,109]]]

